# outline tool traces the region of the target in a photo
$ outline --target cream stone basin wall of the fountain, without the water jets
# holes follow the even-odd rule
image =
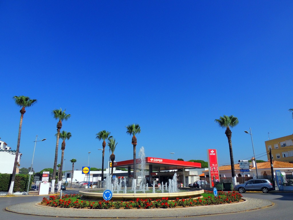
[[[79,191],[82,200],[86,201],[100,201],[103,200],[103,193],[91,192],[96,191],[96,189],[82,189]],[[161,199],[163,197],[168,197],[169,200],[179,199],[189,199],[191,198],[202,198],[203,189],[200,190],[179,190],[179,192],[164,192],[164,193],[113,193],[113,201],[134,201],[135,199]]]

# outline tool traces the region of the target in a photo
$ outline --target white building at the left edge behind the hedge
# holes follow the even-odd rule
[[[0,173],[12,173],[15,155],[16,150],[11,150],[4,141],[0,141]],[[21,155],[18,154],[16,174],[19,172]]]

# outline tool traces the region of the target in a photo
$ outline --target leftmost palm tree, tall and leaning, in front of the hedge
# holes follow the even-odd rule
[[[11,195],[13,193],[13,187],[14,187],[14,179],[15,179],[15,174],[16,174],[16,168],[17,168],[17,160],[18,160],[18,155],[19,155],[19,145],[20,145],[20,136],[21,136],[21,126],[22,126],[22,121],[23,121],[23,115],[25,113],[25,107],[30,107],[33,106],[35,103],[37,103],[37,99],[30,99],[27,96],[14,96],[13,97],[15,104],[19,107],[21,107],[20,110],[20,122],[19,122],[19,129],[18,129],[18,139],[17,139],[17,147],[16,147],[16,154],[15,154],[15,160],[14,160],[14,165],[13,165],[13,171],[12,171],[12,177],[11,177],[11,182],[9,186],[9,190],[7,195]]]

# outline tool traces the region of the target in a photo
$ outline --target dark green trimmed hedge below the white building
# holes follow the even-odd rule
[[[8,192],[12,174],[0,173],[0,192]],[[28,174],[16,174],[13,192],[25,192],[28,189]],[[30,186],[34,178],[30,178]]]

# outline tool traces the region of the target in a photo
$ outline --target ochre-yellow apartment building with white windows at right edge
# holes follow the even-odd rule
[[[293,163],[293,134],[265,141],[266,151],[272,149],[273,160]],[[270,155],[267,155],[268,160]]]

